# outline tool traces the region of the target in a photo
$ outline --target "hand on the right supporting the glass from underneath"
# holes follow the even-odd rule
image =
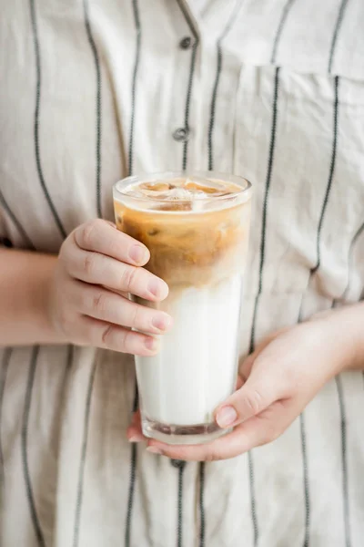
[[[240,367],[242,387],[217,408],[218,425],[234,427],[232,432],[195,446],[144,439],[147,449],[173,459],[209,461],[233,458],[277,439],[331,377],[354,363],[353,337],[343,330],[340,318],[328,316],[269,336]],[[137,415],[127,436],[143,439]]]

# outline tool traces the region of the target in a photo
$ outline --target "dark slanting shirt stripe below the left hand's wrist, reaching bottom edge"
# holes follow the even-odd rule
[[[85,475],[86,452],[87,452],[87,441],[88,441],[88,424],[90,421],[91,396],[92,396],[92,389],[94,387],[95,375],[96,375],[96,363],[94,363],[91,369],[90,378],[89,378],[88,387],[87,387],[87,394],[86,394],[84,438],[82,440],[81,459],[80,459],[80,466],[78,471],[78,486],[77,486],[77,498],[76,498],[73,547],[78,547],[78,540],[79,540],[81,509],[82,509],[82,501],[84,497],[84,475]]]

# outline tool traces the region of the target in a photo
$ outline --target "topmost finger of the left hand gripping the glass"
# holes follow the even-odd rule
[[[109,222],[96,219],[86,222],[74,232],[76,245],[86,251],[94,251],[116,258],[121,262],[144,266],[150,254],[143,243],[119,232]]]

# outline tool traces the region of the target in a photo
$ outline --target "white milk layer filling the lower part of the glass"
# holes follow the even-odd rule
[[[168,308],[174,326],[163,335],[160,353],[136,356],[147,418],[177,426],[213,422],[215,408],[236,386],[241,285],[235,274],[178,293]]]

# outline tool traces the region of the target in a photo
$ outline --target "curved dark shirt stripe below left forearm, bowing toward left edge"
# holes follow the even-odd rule
[[[32,351],[29,365],[28,381],[25,391],[25,405],[23,414],[23,426],[22,426],[22,459],[23,459],[23,472],[25,479],[26,497],[29,503],[30,516],[33,522],[35,530],[35,536],[40,547],[45,547],[45,538],[40,527],[40,522],[35,509],[35,499],[33,494],[32,483],[30,480],[29,464],[28,464],[28,425],[29,425],[29,413],[32,403],[32,392],[35,380],[36,362],[39,355],[39,346],[35,346]]]

